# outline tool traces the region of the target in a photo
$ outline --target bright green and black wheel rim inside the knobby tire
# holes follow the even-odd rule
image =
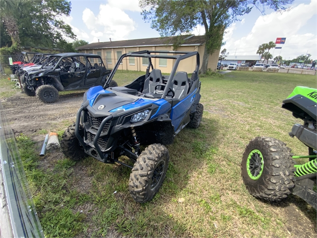
[[[264,160],[259,150],[252,150],[247,160],[247,172],[251,179],[260,179],[264,168]]]

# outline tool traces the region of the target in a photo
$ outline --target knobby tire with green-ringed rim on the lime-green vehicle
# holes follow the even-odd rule
[[[283,141],[253,138],[243,153],[241,172],[250,194],[268,201],[280,201],[294,187],[294,160]]]

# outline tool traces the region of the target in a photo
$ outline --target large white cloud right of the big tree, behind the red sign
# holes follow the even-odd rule
[[[281,52],[282,56],[293,59],[299,55],[306,54],[308,50],[308,53],[312,54],[315,59],[317,58],[316,35],[312,33],[300,34],[299,31],[310,23],[312,16],[317,13],[316,9],[317,1],[312,0],[310,4],[301,3],[286,12],[272,12],[268,15],[260,16],[251,32],[246,36],[240,39],[230,39],[229,35],[225,34],[224,38],[228,40],[227,44],[222,48],[236,48],[236,55],[256,55],[259,45],[269,41],[275,42],[277,37],[286,37],[286,42]],[[314,25],[313,27],[316,26]],[[274,51],[274,57],[279,54],[279,51]],[[273,53],[273,49],[270,53]]]

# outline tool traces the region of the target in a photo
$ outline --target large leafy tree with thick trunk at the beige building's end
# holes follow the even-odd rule
[[[264,13],[265,8],[284,10],[293,0],[140,0],[143,19],[164,36],[192,32],[197,25],[205,27],[206,47],[201,73],[205,73],[209,55],[220,49],[223,32],[239,16],[253,7]]]

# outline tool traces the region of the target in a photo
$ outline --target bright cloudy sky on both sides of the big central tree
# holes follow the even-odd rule
[[[159,37],[144,22],[138,0],[71,0],[70,17],[65,21],[71,25],[79,40],[89,43],[139,38]],[[317,0],[295,0],[291,9],[283,13],[266,10],[262,15],[253,9],[229,26],[224,35],[229,55],[256,55],[259,45],[275,42],[285,37],[282,50],[270,50],[273,56],[293,59],[311,54],[317,59]],[[204,28],[197,26],[193,32],[203,35]]]

